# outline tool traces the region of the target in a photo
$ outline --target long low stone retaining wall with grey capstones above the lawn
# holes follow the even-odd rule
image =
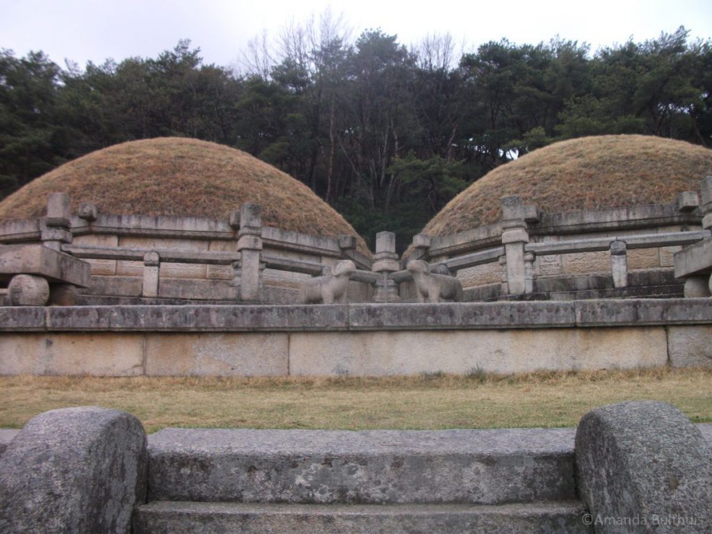
[[[2,375],[383,376],[712,365],[712,300],[0,308]]]

